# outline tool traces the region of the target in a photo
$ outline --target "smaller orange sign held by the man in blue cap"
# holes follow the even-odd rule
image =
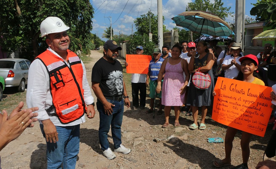
[[[150,55],[126,55],[127,73],[147,74],[150,61]]]

